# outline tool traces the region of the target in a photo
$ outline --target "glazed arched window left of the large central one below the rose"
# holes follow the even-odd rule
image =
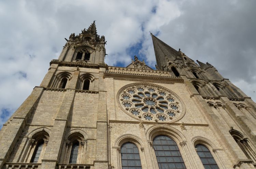
[[[122,169],[142,169],[139,149],[133,143],[124,143],[121,147]]]

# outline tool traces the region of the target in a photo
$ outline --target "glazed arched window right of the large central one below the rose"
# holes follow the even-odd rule
[[[196,145],[197,154],[205,169],[219,169],[210,150],[202,144]]]

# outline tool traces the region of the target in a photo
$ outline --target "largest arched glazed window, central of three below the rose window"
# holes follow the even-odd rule
[[[162,135],[157,136],[153,140],[153,146],[159,169],[186,168],[179,147],[173,139]]]

